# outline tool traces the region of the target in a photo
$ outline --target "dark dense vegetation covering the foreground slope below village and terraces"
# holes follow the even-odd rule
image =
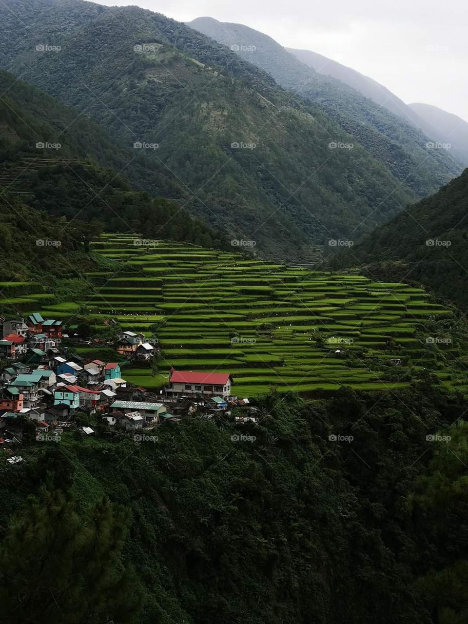
[[[139,444],[102,426],[95,439],[26,443],[22,464],[1,464],[0,620],[466,621],[467,424],[449,427],[466,402],[344,389],[259,407],[256,426],[192,417]],[[49,494],[24,508],[40,484]]]

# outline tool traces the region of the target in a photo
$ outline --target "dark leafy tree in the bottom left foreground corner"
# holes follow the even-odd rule
[[[0,547],[0,622],[135,622],[140,587],[121,556],[129,520],[108,499],[79,513],[61,490],[29,497]]]

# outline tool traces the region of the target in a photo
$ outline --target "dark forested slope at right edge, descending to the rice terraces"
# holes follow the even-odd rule
[[[416,280],[468,307],[468,169],[353,248],[376,278]]]

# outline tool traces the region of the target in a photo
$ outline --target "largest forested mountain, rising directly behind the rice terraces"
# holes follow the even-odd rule
[[[82,0],[9,8],[0,5],[0,66],[128,150],[149,145],[135,159],[144,167],[139,188],[233,239],[256,241],[260,253],[304,257],[311,243],[370,232],[454,173],[443,154],[424,152],[422,163],[418,152],[418,168],[370,127],[362,130],[374,145],[363,147],[322,105],[160,14]],[[170,192],[152,170],[167,175]],[[130,165],[125,173],[135,183]]]

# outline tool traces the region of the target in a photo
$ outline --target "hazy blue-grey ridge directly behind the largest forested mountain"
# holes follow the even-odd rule
[[[324,76],[267,35],[243,24],[199,17],[190,26],[231,47],[285,89],[319,104],[331,119],[419,197],[461,172],[446,150],[428,149],[428,137],[412,123],[364,97],[341,80]]]

